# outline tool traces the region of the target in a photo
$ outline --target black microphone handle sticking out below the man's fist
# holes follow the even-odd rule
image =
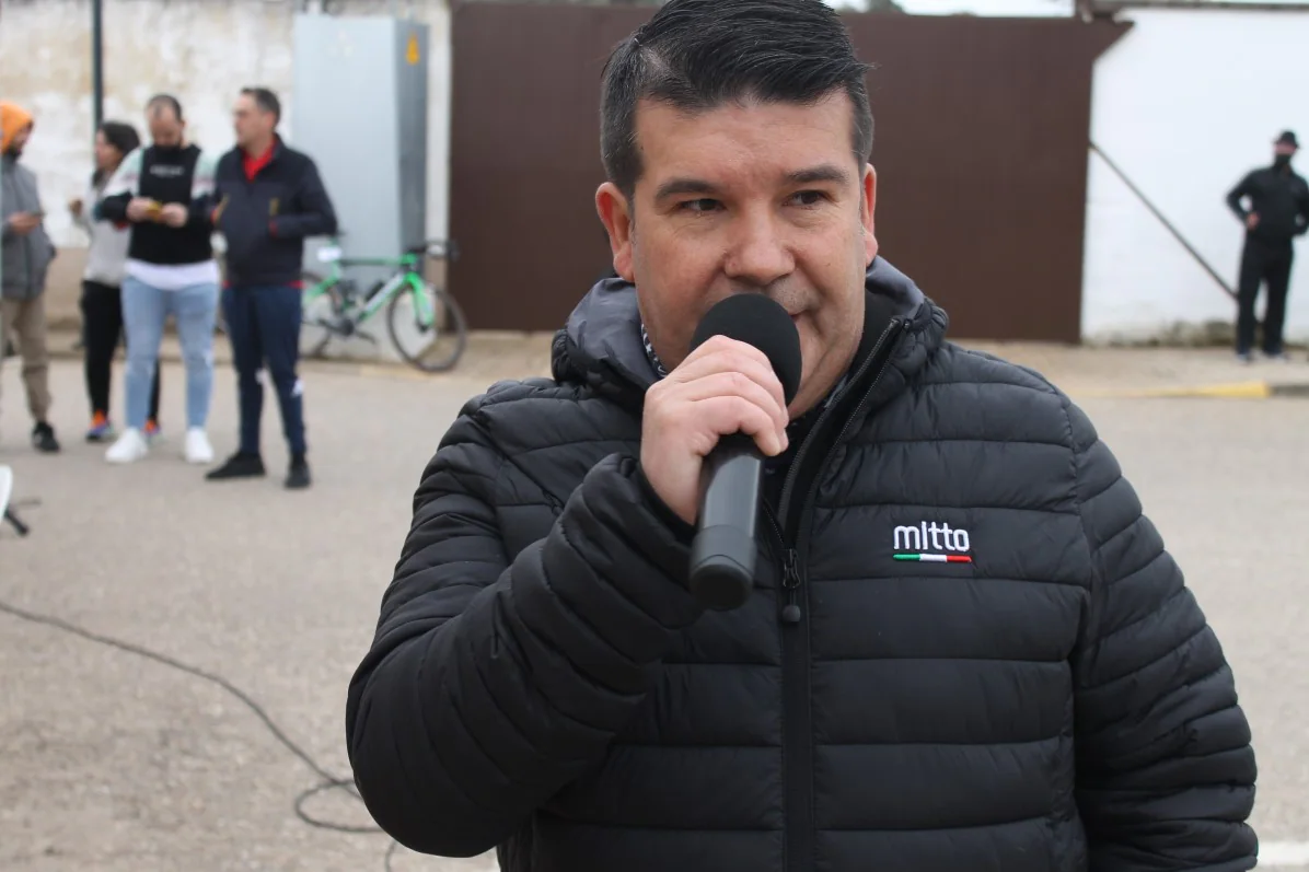
[[[736,609],[750,597],[762,487],[763,453],[751,437],[724,436],[704,458],[690,579],[708,609]]]

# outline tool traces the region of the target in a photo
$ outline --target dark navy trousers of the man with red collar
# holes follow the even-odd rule
[[[241,452],[259,453],[259,418],[263,414],[263,365],[278,390],[281,432],[293,456],[305,454],[304,386],[296,373],[300,360],[300,288],[291,285],[223,289],[223,314],[232,339],[241,398]]]

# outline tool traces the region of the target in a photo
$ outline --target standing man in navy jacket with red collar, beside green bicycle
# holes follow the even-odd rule
[[[219,161],[213,225],[226,238],[226,317],[241,397],[241,446],[206,478],[223,481],[264,474],[259,450],[263,410],[260,371],[278,390],[281,427],[291,450],[285,486],[309,487],[304,388],[300,360],[301,285],[305,237],[336,232],[336,213],[308,154],[276,134],[281,107],[263,88],[243,89],[234,120],[237,147]]]

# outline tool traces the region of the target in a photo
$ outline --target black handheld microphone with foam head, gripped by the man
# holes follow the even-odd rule
[[[691,340],[725,335],[768,357],[787,405],[800,388],[800,334],[787,310],[762,293],[737,293],[709,309]],[[737,609],[754,588],[755,525],[763,490],[763,452],[746,433],[719,440],[700,470],[700,512],[691,543],[690,588],[707,609]]]

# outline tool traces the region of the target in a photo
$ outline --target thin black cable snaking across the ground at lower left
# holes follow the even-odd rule
[[[306,750],[304,750],[300,745],[293,742],[287,736],[287,733],[283,732],[280,727],[278,727],[276,721],[274,721],[272,718],[268,716],[268,712],[266,712],[263,707],[259,706],[259,703],[257,703],[254,699],[250,698],[249,694],[246,694],[243,690],[233,685],[223,676],[206,672],[199,666],[191,666],[179,660],[174,660],[168,655],[161,655],[158,652],[151,651],[149,648],[143,648],[140,645],[132,644],[131,642],[122,642],[119,639],[113,639],[110,636],[102,636],[98,632],[92,632],[90,630],[84,630],[76,625],[68,623],[63,618],[37,614],[34,611],[27,611],[26,609],[20,609],[18,606],[13,606],[3,601],[0,601],[0,611],[4,611],[14,618],[18,618],[20,621],[27,621],[29,623],[54,627],[55,630],[62,630],[63,632],[80,636],[81,639],[93,642],[96,644],[107,645],[110,648],[117,648],[118,651],[136,655],[137,657],[145,657],[147,660],[153,660],[154,663],[169,666],[170,669],[177,669],[178,672],[185,672],[188,676],[194,676],[196,678],[208,681],[212,685],[217,685],[219,687],[221,687],[223,690],[225,690],[226,693],[232,694],[238,700],[241,700],[241,703],[243,703],[246,708],[253,711],[255,718],[258,718],[263,723],[263,725],[268,729],[268,732],[272,733],[274,738],[276,738],[287,750],[289,750],[292,754],[300,758],[300,761],[305,766],[308,766],[315,775],[318,775],[322,779],[322,782],[319,782],[314,787],[310,787],[309,790],[302,791],[298,796],[296,796],[293,804],[296,817],[298,817],[301,821],[304,821],[310,826],[317,826],[318,829],[332,830],[336,833],[382,833],[382,829],[376,825],[352,826],[348,824],[332,824],[331,821],[323,821],[312,817],[308,812],[305,812],[304,804],[306,800],[309,800],[313,796],[317,796],[318,793],[323,793],[331,790],[346,791],[360,803],[363,803],[364,800],[363,797],[360,797],[359,790],[355,787],[353,779],[339,778],[338,775],[334,775],[322,766],[319,766],[318,761],[310,757]],[[399,842],[391,839],[390,846],[386,848],[386,856],[384,860],[384,867],[386,872],[391,872],[391,858],[395,855],[395,850],[398,847]]]

